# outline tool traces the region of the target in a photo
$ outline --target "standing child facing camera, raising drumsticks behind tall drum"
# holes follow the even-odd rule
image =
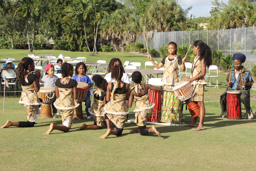
[[[186,59],[183,58],[182,60],[180,56],[177,56],[177,44],[175,42],[170,42],[168,44],[168,52],[170,54],[168,56],[164,56],[163,60],[159,64],[155,63],[151,55],[148,55],[147,59],[150,60],[157,69],[164,65],[162,84],[165,88],[173,88],[180,82],[179,65],[183,71],[186,69],[184,64]]]

